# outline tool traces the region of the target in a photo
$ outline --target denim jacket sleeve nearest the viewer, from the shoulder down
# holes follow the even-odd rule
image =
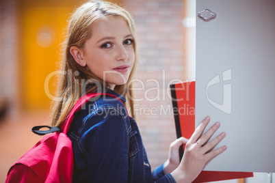
[[[127,119],[116,109],[98,111],[87,119],[86,125],[91,127],[83,132],[81,145],[87,154],[88,182],[127,182],[129,136],[125,123]]]

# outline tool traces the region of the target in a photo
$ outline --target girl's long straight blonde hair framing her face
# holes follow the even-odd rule
[[[131,71],[127,83],[124,85],[116,85],[114,88],[114,90],[119,94],[122,94],[123,92],[125,96],[127,96],[127,94],[131,96],[132,90],[129,89],[129,81],[131,81],[133,71],[137,65],[137,36],[133,18],[131,18],[129,12],[114,3],[107,1],[88,1],[75,10],[68,23],[68,33],[63,45],[63,57],[61,62],[61,70],[64,74],[60,76],[57,87],[57,96],[60,100],[55,101],[53,107],[52,126],[61,126],[65,122],[66,117],[68,116],[68,113],[70,113],[75,102],[77,102],[83,94],[96,92],[97,89],[99,89],[96,83],[93,83],[92,87],[86,91],[86,88],[83,88],[83,80],[88,81],[92,79],[93,81],[98,82],[97,84],[105,84],[104,81],[92,74],[87,67],[82,67],[77,64],[73,56],[70,54],[70,48],[72,46],[83,48],[84,43],[91,36],[92,23],[104,16],[118,16],[123,18],[129,25],[129,29],[133,36],[133,47],[135,51],[133,70]],[[125,92],[127,86],[130,93]],[[128,96],[127,101],[132,109],[131,115],[133,115],[133,100]]]

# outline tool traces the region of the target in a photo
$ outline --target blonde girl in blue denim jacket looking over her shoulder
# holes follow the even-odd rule
[[[53,126],[61,126],[75,102],[89,92],[113,94],[130,105],[128,85],[137,66],[137,36],[130,14],[105,1],[81,5],[68,23]],[[89,101],[75,113],[68,135],[73,142],[73,182],[192,182],[209,160],[226,150],[217,145],[224,133],[207,143],[219,123],[205,134],[206,117],[187,140],[170,145],[166,163],[151,173],[140,132],[125,105],[109,96]],[[133,107],[131,107],[133,109]],[[133,114],[133,113],[132,113]],[[179,146],[186,144],[183,160]]]

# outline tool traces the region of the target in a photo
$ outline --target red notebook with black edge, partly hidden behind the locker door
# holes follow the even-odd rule
[[[170,85],[177,138],[189,139],[195,131],[195,87],[195,81]],[[183,152],[184,147],[181,147],[180,158],[183,157]],[[253,177],[252,172],[202,171],[194,183],[249,177]]]

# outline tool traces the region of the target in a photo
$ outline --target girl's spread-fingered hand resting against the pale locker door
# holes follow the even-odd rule
[[[179,167],[171,173],[176,182],[192,182],[211,159],[226,150],[225,145],[213,150],[213,148],[224,139],[224,132],[215,137],[215,139],[209,141],[214,132],[220,127],[220,123],[215,123],[202,135],[209,121],[210,118],[205,117],[186,143],[183,160],[181,160]]]

